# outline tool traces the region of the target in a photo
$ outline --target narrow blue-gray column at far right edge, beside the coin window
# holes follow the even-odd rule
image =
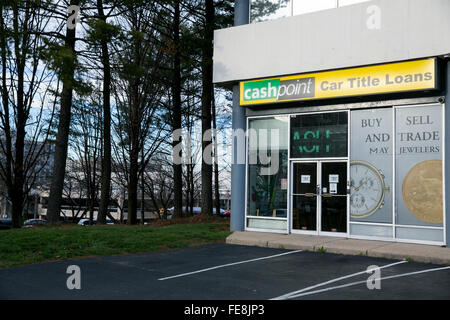
[[[447,59],[447,66],[444,68],[445,76],[445,224],[447,247],[450,247],[450,59]]]

